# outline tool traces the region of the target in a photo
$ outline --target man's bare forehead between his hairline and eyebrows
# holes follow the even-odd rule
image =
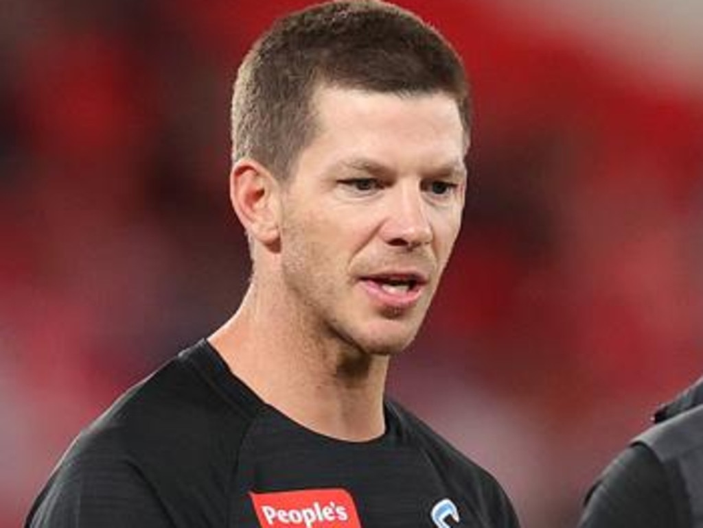
[[[384,163],[446,165],[460,164],[466,152],[458,105],[443,92],[397,94],[321,86],[311,103],[316,133],[303,157],[363,155]]]

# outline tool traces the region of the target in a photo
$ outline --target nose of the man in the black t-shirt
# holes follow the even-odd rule
[[[432,242],[432,225],[422,191],[410,185],[399,185],[395,190],[382,226],[382,238],[391,246],[408,249]]]

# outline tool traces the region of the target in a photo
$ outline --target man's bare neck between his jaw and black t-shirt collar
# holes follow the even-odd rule
[[[321,332],[296,313],[280,299],[264,302],[252,284],[209,341],[264,402],[304,427],[354,442],[382,435],[388,358]]]

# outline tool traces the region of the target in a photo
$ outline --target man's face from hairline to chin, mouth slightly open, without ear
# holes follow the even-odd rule
[[[459,232],[454,100],[319,88],[318,132],[283,186],[280,266],[299,320],[391,354],[417,333]]]

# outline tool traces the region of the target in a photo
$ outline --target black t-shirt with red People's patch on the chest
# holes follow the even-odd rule
[[[508,497],[399,405],[370,442],[265,404],[200,341],[63,456],[27,528],[517,528]]]

